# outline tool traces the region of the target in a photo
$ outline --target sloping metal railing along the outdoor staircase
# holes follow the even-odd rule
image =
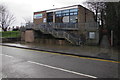
[[[80,40],[78,38],[73,37],[72,35],[70,35],[69,33],[65,31],[56,31],[54,28],[50,26],[48,27],[45,24],[39,25],[39,29],[43,33],[49,33],[56,38],[64,38],[72,44],[80,45]]]

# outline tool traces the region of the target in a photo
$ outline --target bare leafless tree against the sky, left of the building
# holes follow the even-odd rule
[[[3,31],[7,31],[8,26],[13,24],[15,17],[10,14],[5,5],[0,4],[0,27]]]

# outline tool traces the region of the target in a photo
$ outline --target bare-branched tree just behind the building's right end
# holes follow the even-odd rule
[[[95,13],[95,21],[100,24],[99,26],[99,44],[103,38],[103,30],[105,26],[105,9],[106,5],[104,2],[91,2],[91,0],[87,0],[85,2],[87,7]]]

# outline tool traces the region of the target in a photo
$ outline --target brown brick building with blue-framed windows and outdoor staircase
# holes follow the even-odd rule
[[[43,34],[44,36],[52,35],[57,40],[75,45],[97,44],[99,32],[94,17],[92,11],[81,5],[34,12],[34,24],[27,25],[22,33],[26,35],[26,39],[23,40],[33,42]],[[34,36],[30,38],[31,35]]]

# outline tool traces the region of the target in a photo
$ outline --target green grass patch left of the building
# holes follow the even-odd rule
[[[20,31],[5,31],[0,32],[0,35],[4,38],[18,38],[20,37]]]

